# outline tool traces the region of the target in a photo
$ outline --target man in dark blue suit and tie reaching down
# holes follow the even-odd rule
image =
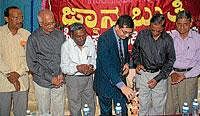
[[[122,115],[126,116],[126,98],[131,100],[134,97],[133,90],[126,86],[129,71],[128,37],[133,28],[132,18],[122,15],[116,25],[98,39],[94,90],[99,97],[102,116],[112,115],[112,100],[114,106],[121,104]]]

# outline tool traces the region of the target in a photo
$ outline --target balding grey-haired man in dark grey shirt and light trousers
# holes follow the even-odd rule
[[[39,115],[64,116],[64,77],[60,68],[64,34],[55,29],[50,10],[38,14],[40,27],[27,42],[27,64],[33,75]]]

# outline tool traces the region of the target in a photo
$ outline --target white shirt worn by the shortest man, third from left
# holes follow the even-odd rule
[[[67,75],[84,75],[78,72],[76,66],[92,64],[96,69],[96,49],[92,38],[87,36],[83,48],[80,49],[72,38],[69,38],[61,48],[61,69]]]

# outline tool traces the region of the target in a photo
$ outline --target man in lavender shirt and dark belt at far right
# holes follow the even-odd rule
[[[200,34],[191,29],[192,15],[180,11],[176,15],[176,30],[170,31],[174,41],[176,61],[168,83],[166,111],[168,114],[182,112],[184,102],[192,111],[192,102],[198,95],[200,74]]]

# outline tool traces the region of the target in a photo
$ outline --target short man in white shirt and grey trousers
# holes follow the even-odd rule
[[[95,115],[93,73],[96,68],[96,50],[80,23],[70,26],[71,38],[61,48],[61,69],[66,74],[69,109],[72,116],[80,116],[81,108],[88,104],[91,116]]]

